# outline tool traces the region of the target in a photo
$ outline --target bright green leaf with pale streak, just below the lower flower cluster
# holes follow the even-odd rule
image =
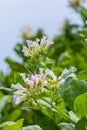
[[[42,113],[54,120],[55,123],[58,123],[63,118],[65,104],[62,98],[56,97],[55,100],[50,100],[49,98],[43,97],[41,100],[38,100],[38,103]]]

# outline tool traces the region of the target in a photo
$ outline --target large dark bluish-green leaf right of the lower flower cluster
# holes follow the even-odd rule
[[[79,79],[69,79],[61,86],[60,94],[66,105],[72,110],[77,96],[87,92],[87,82]]]

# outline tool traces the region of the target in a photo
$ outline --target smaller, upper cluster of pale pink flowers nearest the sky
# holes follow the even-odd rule
[[[27,45],[23,46],[22,52],[24,53],[24,56],[35,56],[37,54],[42,54],[43,52],[46,52],[49,45],[53,44],[47,37],[43,36],[43,38],[36,39],[36,41],[27,40]]]

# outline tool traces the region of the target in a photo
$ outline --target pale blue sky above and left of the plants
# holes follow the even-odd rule
[[[0,69],[6,70],[6,56],[17,59],[12,48],[22,27],[42,28],[52,37],[67,14],[68,0],[0,0]]]

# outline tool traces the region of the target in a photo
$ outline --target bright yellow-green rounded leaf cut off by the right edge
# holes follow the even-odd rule
[[[78,96],[74,101],[74,111],[77,116],[87,117],[87,92]]]

